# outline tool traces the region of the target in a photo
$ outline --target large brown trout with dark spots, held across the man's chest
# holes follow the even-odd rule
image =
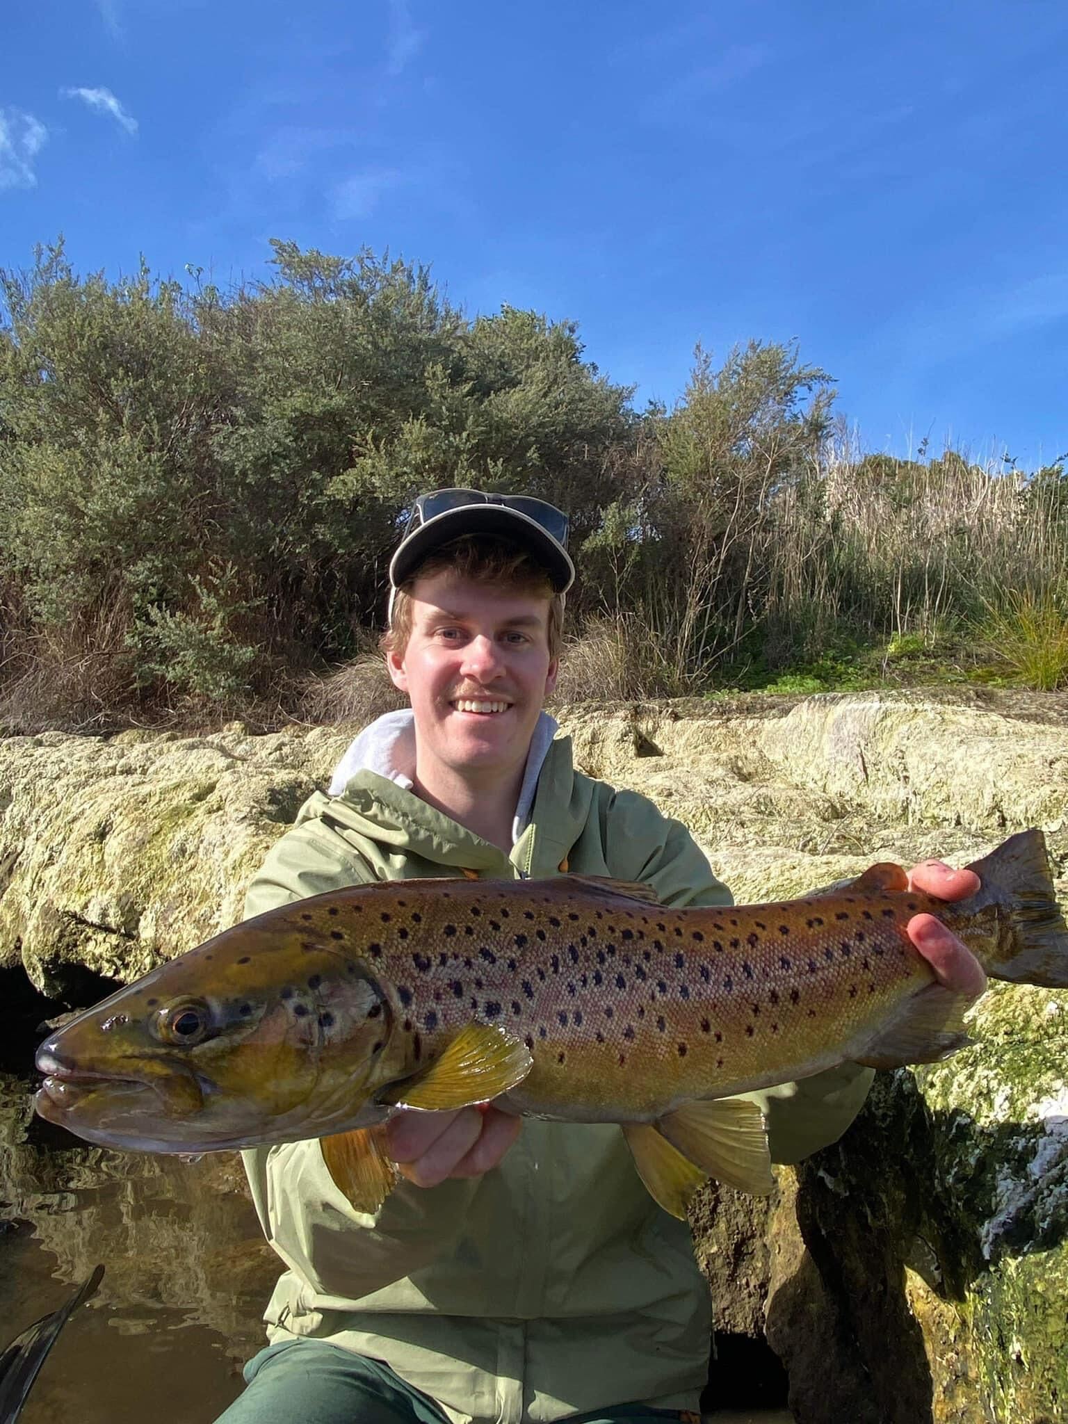
[[[871,866],[842,891],[672,910],[642,886],[404,880],[271,910],[171,960],[53,1034],[37,1111],[90,1142],[205,1152],[320,1138],[375,1210],[396,1180],[397,1108],[496,1099],[618,1122],[661,1205],[708,1178],[773,1185],[759,1109],[735,1094],[843,1061],[933,1062],[971,1000],[907,937],[936,914],[987,974],[1068,987],[1068,928],[1041,832],[947,903]]]

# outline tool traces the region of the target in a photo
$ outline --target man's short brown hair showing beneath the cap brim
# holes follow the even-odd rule
[[[379,646],[383,652],[400,652],[412,637],[412,591],[416,580],[444,570],[457,578],[490,588],[544,597],[548,602],[548,654],[558,658],[564,642],[564,595],[553,592],[548,572],[538,561],[507,540],[484,534],[463,534],[427,554],[419,568],[406,578],[393,595],[393,614]]]

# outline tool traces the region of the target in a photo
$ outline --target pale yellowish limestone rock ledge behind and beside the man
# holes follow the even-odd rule
[[[1064,699],[560,716],[580,768],[685,822],[739,901],[873,860],[965,863],[1031,824],[1065,870]],[[130,980],[232,923],[355,731],[0,740],[0,968],[60,995],[85,970]],[[695,1209],[721,1327],[766,1331],[799,1424],[1068,1415],[1068,994],[998,987],[973,1017],[977,1047],[880,1074],[840,1143],[780,1169],[776,1202],[711,1186]]]

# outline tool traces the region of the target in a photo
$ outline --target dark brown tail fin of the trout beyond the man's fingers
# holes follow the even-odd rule
[[[997,906],[998,951],[983,967],[991,978],[1044,988],[1068,988],[1068,926],[1057,904],[1045,836],[1022,830],[1010,836],[974,870],[983,881],[968,909]]]

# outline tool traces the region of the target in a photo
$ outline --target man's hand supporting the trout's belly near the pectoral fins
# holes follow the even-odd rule
[[[520,1135],[523,1118],[490,1104],[456,1112],[399,1112],[386,1124],[389,1155],[416,1186],[481,1176]]]

